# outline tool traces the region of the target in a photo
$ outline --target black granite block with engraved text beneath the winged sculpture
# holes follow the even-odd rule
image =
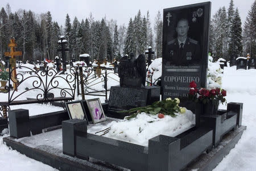
[[[123,119],[129,113],[118,113],[118,111],[129,110],[160,100],[160,87],[120,87],[113,86],[110,89],[108,117]]]

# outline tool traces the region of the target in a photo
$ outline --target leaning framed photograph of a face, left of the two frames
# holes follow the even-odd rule
[[[69,118],[71,119],[85,119],[88,123],[84,107],[81,100],[65,102]]]

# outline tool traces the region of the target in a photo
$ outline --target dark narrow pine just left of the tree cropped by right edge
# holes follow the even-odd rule
[[[232,20],[232,27],[231,27],[231,37],[230,37],[230,44],[229,44],[229,55],[230,57],[236,56],[240,57],[242,54],[242,23],[241,18],[238,12],[238,8],[236,8],[236,12],[234,14],[234,18]]]

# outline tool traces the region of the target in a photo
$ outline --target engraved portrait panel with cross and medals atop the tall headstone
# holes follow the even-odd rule
[[[197,64],[202,59],[205,7],[164,9],[163,63]]]

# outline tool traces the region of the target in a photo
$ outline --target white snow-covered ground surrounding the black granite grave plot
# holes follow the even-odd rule
[[[243,102],[242,125],[247,126],[241,139],[221,163],[214,169],[218,170],[255,170],[256,168],[256,70],[236,70],[236,67],[225,67],[222,77],[222,88],[227,90],[227,102]],[[5,96],[6,97],[6,96]],[[0,94],[0,101],[5,100]],[[92,96],[85,97],[86,99]],[[102,102],[104,102],[102,99]],[[30,108],[30,116],[62,110],[50,105],[23,105],[16,108]],[[220,109],[226,109],[225,104]],[[46,111],[47,110],[47,111]],[[4,135],[7,136],[7,135]],[[0,170],[56,170],[39,161],[30,159],[3,144],[0,136]]]

